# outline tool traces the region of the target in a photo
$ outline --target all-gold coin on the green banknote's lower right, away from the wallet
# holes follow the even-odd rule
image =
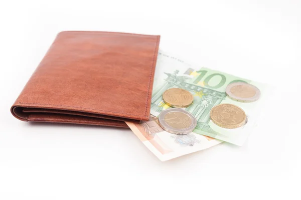
[[[243,109],[230,103],[214,106],[210,111],[210,117],[216,125],[223,128],[238,128],[246,121]]]

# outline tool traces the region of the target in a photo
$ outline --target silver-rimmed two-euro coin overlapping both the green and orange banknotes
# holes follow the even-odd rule
[[[197,126],[197,119],[190,112],[179,108],[166,109],[158,118],[159,125],[174,134],[188,134]]]

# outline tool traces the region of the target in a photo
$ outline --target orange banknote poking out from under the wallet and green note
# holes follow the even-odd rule
[[[221,140],[197,133],[177,135],[165,131],[158,124],[158,117],[151,115],[142,123],[126,122],[143,144],[160,160],[165,161],[181,155],[209,148]]]

